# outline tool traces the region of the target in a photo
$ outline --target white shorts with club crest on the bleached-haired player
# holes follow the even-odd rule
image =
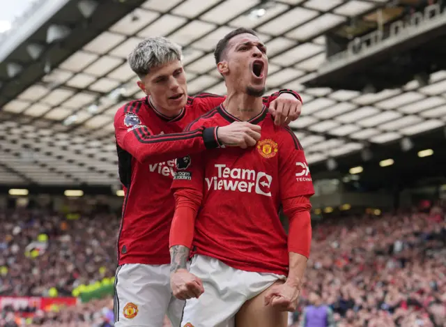
[[[114,280],[115,327],[180,326],[185,302],[172,295],[170,265],[123,264]]]

